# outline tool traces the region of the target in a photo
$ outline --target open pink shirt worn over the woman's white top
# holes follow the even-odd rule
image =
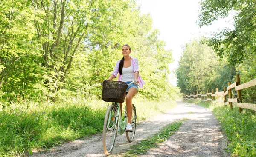
[[[120,61],[121,60],[118,60],[116,62],[116,67],[112,73],[112,75],[114,75],[115,77],[117,76],[118,74],[118,68],[119,68],[119,64],[120,64]],[[134,69],[134,72],[138,71],[139,72],[139,62],[137,60],[137,58],[134,58],[134,57],[131,57],[131,65]],[[121,81],[122,80],[122,75],[118,75],[118,80]],[[138,81],[139,81],[139,85],[140,85],[140,88],[143,88],[143,85],[145,85],[145,82],[143,81],[143,79],[140,77],[140,74],[139,74],[139,77],[138,77]]]

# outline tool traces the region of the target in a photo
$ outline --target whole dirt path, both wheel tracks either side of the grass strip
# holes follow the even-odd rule
[[[182,118],[188,120],[183,123],[180,130],[159,148],[149,150],[143,157],[229,157],[224,151],[224,148],[227,148],[226,140],[212,113],[195,104],[181,102],[167,113],[140,122],[136,127],[134,142],[129,143],[125,134],[118,135],[110,156],[119,156],[118,154],[125,152],[135,142]],[[34,153],[32,157],[105,157],[102,135],[66,143],[45,153]]]

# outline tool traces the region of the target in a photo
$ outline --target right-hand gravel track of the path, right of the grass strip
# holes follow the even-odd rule
[[[230,157],[225,151],[227,138],[211,111],[195,104],[179,104],[179,108],[188,120],[159,148],[141,157]]]

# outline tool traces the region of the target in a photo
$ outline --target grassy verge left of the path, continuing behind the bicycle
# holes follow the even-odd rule
[[[176,103],[134,100],[137,120],[160,114]],[[72,100],[56,103],[23,102],[0,108],[0,157],[23,156],[33,150],[101,133],[107,103]]]

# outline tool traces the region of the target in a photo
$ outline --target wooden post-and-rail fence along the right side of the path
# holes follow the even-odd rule
[[[211,93],[206,92],[206,94],[188,94],[183,97],[185,100],[201,100],[201,101],[211,101],[212,103],[224,103],[224,105],[229,105],[230,109],[233,108],[233,103],[236,103],[236,106],[239,107],[239,112],[242,111],[242,108],[247,108],[250,110],[256,111],[256,104],[253,103],[242,103],[242,95],[241,90],[245,88],[250,88],[256,86],[256,79],[250,80],[247,83],[241,84],[240,75],[236,75],[236,82],[231,83],[228,82],[228,86],[224,87],[224,91],[218,91],[218,88],[214,90],[212,89]],[[237,98],[232,96],[232,89],[235,88],[237,92]],[[227,98],[228,94],[228,98]]]

